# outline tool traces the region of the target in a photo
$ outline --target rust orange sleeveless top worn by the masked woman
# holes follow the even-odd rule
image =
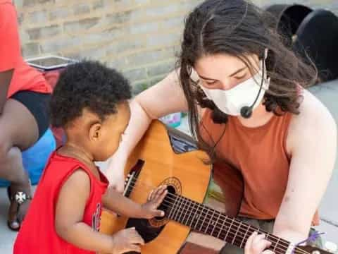
[[[217,156],[242,173],[244,195],[239,215],[275,219],[287,188],[291,158],[285,145],[292,114],[274,115],[263,126],[251,128],[234,116],[225,124],[213,123],[211,113],[209,109],[204,113],[201,135],[210,145],[219,140]],[[317,213],[313,224],[318,224]]]

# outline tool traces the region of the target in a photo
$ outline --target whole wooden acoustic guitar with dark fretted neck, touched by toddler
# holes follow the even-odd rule
[[[271,241],[270,249],[276,254],[292,251],[328,254],[311,246],[294,246],[234,219],[242,200],[242,176],[225,165],[214,164],[212,169],[204,163],[207,159],[205,152],[197,150],[192,138],[177,130],[168,132],[163,123],[153,121],[128,158],[124,195],[143,203],[152,189],[166,184],[168,194],[160,206],[165,217],[132,219],[104,211],[100,231],[114,234],[134,226],[146,243],[142,246],[144,254],[216,253],[213,248],[206,248],[203,237],[198,240],[202,235],[196,234],[197,241],[195,237],[194,243],[189,243],[187,237],[191,231],[239,248],[244,248],[253,231],[258,231]]]

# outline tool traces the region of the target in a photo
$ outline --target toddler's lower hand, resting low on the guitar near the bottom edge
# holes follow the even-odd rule
[[[135,228],[123,229],[113,235],[110,253],[120,254],[129,251],[141,253],[139,245],[144,245],[144,240]]]

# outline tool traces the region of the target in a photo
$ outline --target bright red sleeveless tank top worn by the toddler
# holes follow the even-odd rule
[[[54,152],[44,170],[37,191],[25,220],[14,243],[13,253],[94,253],[73,246],[56,234],[54,227],[55,209],[58,193],[68,177],[78,169],[84,170],[90,179],[90,194],[85,207],[82,222],[99,231],[101,217],[101,197],[108,186],[108,180],[99,171],[100,180],[92,171],[77,159],[63,157]]]

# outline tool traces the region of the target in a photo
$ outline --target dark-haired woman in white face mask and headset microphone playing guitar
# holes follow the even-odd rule
[[[131,102],[108,169],[113,186],[121,189],[127,156],[152,119],[189,111],[211,162],[225,161],[244,176],[239,219],[294,243],[308,236],[332,174],[337,128],[303,89],[316,80],[315,68],[284,46],[269,20],[244,0],[207,0],[189,14],[180,71]],[[240,251],[226,245],[222,253]]]

